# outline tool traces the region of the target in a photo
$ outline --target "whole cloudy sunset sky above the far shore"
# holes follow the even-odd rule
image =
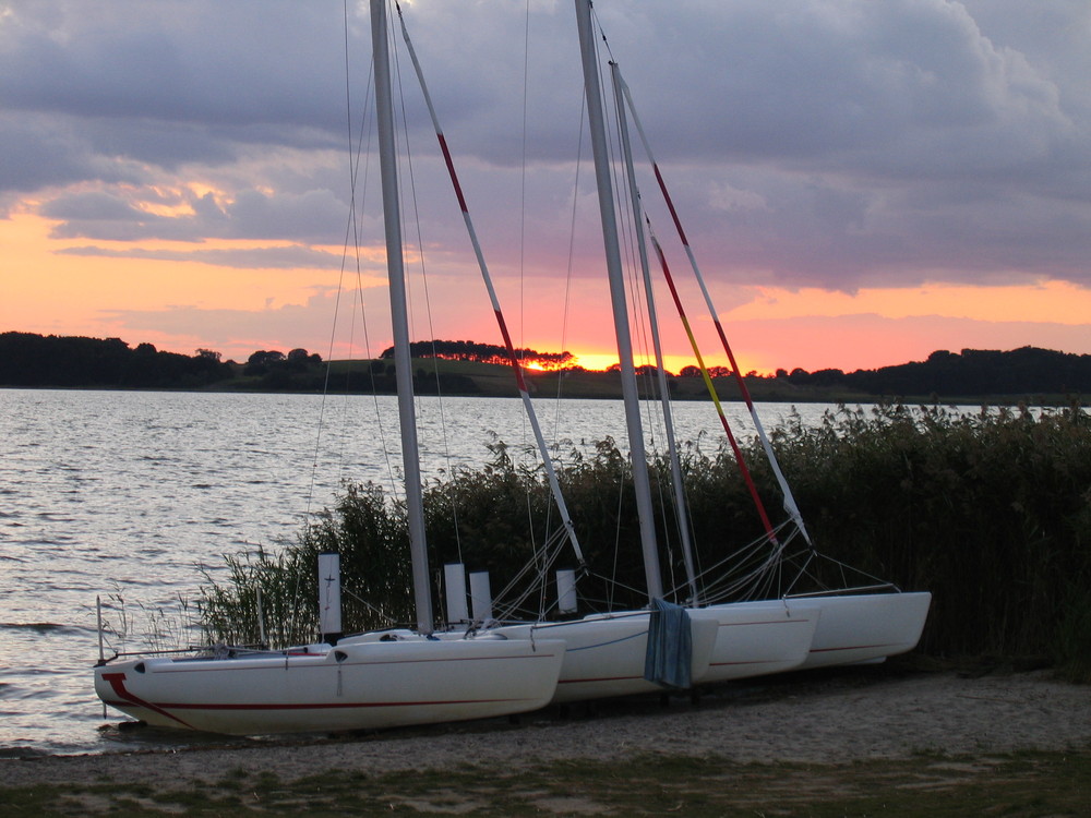
[[[616,360],[571,0],[403,8],[516,342]],[[596,14],[744,370],[1091,353],[1087,0],[598,0]],[[388,346],[371,161],[360,273],[341,274],[367,3],[349,3],[347,37],[345,20],[343,0],[0,0],[0,332],[238,360],[341,357],[349,333],[357,353]],[[499,342],[403,70],[403,196],[421,220],[406,240],[427,274],[412,265],[412,335]],[[687,345],[657,296],[676,369]]]

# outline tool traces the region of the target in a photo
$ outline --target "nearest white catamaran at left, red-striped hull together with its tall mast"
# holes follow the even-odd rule
[[[555,693],[565,642],[466,631],[435,638],[413,413],[386,0],[371,0],[391,314],[417,628],[288,650],[100,655],[107,705],[164,727],[229,734],[346,731],[535,710]]]

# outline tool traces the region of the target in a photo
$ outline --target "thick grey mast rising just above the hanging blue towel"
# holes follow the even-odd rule
[[[618,216],[614,212],[613,185],[610,180],[610,164],[607,155],[602,89],[599,85],[598,63],[595,59],[591,3],[590,0],[575,0],[575,2],[576,27],[579,32],[579,51],[584,67],[584,88],[587,95],[587,120],[591,131],[595,180],[599,192],[599,214],[602,218],[602,242],[606,246],[607,273],[610,277],[610,302],[613,308],[614,332],[618,336],[618,357],[621,365],[628,449],[633,460],[636,513],[640,522],[644,573],[648,582],[648,598],[657,600],[663,597],[663,584],[659,573],[659,549],[656,544],[656,526],[651,513],[651,484],[648,479],[648,459],[644,450],[640,401],[637,394],[636,372],[633,369],[633,340],[630,336],[625,281],[622,273],[621,249],[618,242]]]

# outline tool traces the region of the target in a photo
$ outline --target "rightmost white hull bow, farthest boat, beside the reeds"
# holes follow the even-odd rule
[[[822,610],[814,642],[803,667],[883,661],[907,653],[921,640],[932,594],[868,593],[788,600]]]

